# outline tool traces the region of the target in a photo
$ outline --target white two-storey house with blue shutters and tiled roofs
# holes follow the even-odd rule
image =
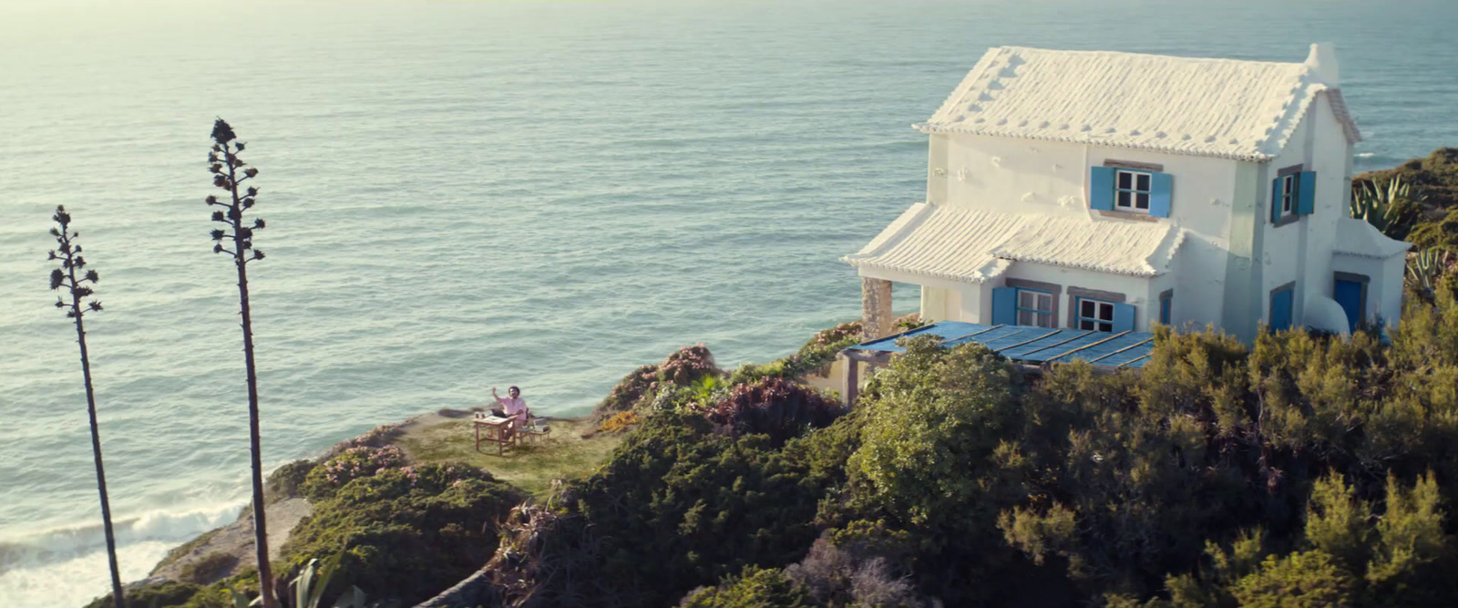
[[[1303,63],[999,47],[942,108],[926,200],[847,255],[930,321],[1147,331],[1398,319],[1408,243],[1347,214],[1360,133],[1331,45]]]

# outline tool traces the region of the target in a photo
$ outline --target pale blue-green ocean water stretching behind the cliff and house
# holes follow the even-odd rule
[[[66,204],[121,564],[246,494],[207,134],[261,169],[264,461],[521,385],[580,414],[684,344],[770,360],[859,313],[838,260],[920,200],[924,120],[990,45],[1299,61],[1338,45],[1357,168],[1458,144],[1458,3],[0,3],[0,605],[106,591]],[[914,293],[898,306],[916,309]]]

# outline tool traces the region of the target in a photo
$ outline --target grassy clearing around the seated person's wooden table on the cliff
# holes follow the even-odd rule
[[[512,446],[497,456],[491,443],[481,443],[481,452],[475,451],[471,418],[432,416],[405,426],[394,443],[414,462],[465,462],[490,471],[496,478],[537,499],[545,499],[551,493],[553,480],[590,474],[623,440],[621,434],[605,433],[583,439],[582,433],[589,429],[590,423],[586,420],[554,418],[551,439]]]

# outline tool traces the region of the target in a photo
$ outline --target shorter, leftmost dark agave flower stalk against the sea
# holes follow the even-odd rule
[[[106,561],[111,566],[111,598],[117,608],[122,608],[125,601],[121,593],[121,570],[117,567],[117,535],[111,528],[111,500],[106,497],[106,467],[101,459],[101,429],[96,426],[96,391],[92,389],[90,354],[86,351],[86,321],[87,312],[101,312],[101,302],[92,299],[85,306],[83,299],[95,296],[92,286],[101,280],[95,270],[86,270],[86,258],[82,257],[82,246],[76,243],[79,232],[71,230],[71,216],[66,207],[57,206],[51,216],[57,227],[51,229],[55,236],[55,249],[50,260],[58,260],[60,268],[51,270],[51,290],[64,289],[70,296],[55,299],[55,308],[64,309],[66,316],[76,324],[76,341],[82,347],[82,381],[86,383],[86,414],[92,426],[92,459],[96,462],[96,491],[101,494],[101,525],[106,534]]]

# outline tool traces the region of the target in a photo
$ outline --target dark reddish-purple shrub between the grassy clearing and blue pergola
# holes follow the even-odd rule
[[[768,434],[781,445],[806,427],[824,429],[846,410],[814,388],[783,378],[765,378],[738,385],[704,413],[714,429],[726,434]]]

